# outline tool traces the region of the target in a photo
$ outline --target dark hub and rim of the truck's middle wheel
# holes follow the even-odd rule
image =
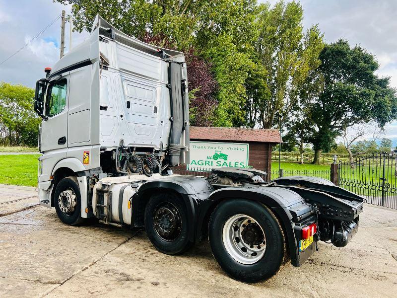
[[[154,229],[166,241],[172,241],[181,232],[182,221],[178,209],[171,203],[160,203],[153,217]]]

